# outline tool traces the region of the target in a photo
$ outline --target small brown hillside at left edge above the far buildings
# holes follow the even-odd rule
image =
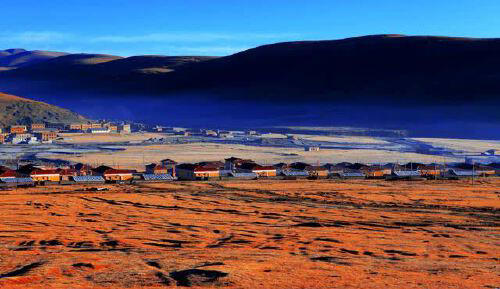
[[[85,118],[67,109],[0,92],[0,125],[35,122],[72,123]]]

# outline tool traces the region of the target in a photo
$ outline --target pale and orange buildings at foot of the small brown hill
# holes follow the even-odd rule
[[[5,129],[0,128],[0,144],[40,144],[52,143],[61,132],[80,133],[131,133],[130,124],[99,123],[73,123],[46,124],[32,123],[30,125],[12,125]]]

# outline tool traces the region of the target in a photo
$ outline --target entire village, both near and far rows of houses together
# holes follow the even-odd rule
[[[258,132],[256,130],[229,131],[218,129],[187,129],[162,126],[146,126],[140,123],[113,123],[96,121],[87,123],[50,124],[32,123],[29,125],[13,125],[0,134],[0,143],[11,145],[36,145],[64,140],[72,136],[96,135],[124,137],[154,132],[162,138],[145,139],[137,144],[151,145],[165,142],[188,143],[196,141],[257,145],[274,147],[282,150],[286,147],[301,148],[309,154],[317,154],[323,149],[332,149],[332,143],[304,138],[299,134],[279,134]],[[273,136],[273,137],[268,137]],[[276,137],[277,136],[277,137]],[[322,138],[319,138],[322,140]],[[136,144],[136,145],[137,145]],[[398,145],[400,143],[397,143]],[[410,143],[412,144],[412,143]],[[340,144],[344,146],[346,144]],[[377,143],[375,145],[378,145]],[[359,144],[354,144],[359,146]],[[366,148],[373,144],[364,145]],[[382,143],[381,147],[387,147]],[[359,146],[363,147],[363,144]],[[415,149],[422,150],[421,145]],[[332,150],[333,151],[333,150]],[[433,153],[429,150],[429,153]],[[444,151],[437,153],[443,154]],[[169,154],[165,151],[165,154]],[[158,158],[160,159],[160,158]],[[158,160],[157,159],[157,160]],[[462,179],[493,177],[500,174],[499,156],[495,149],[490,149],[475,156],[465,156],[464,162],[425,163],[413,160],[400,162],[322,162],[307,161],[254,161],[252,159],[230,157],[224,160],[176,162],[163,159],[147,164],[143,161],[139,167],[127,167],[102,162],[44,162],[38,158],[25,159],[19,163],[11,159],[4,160],[0,166],[0,187],[22,187],[50,184],[98,184],[98,183],[141,183],[168,181],[207,181],[228,179],[386,179],[386,180],[424,180],[424,179]]]

